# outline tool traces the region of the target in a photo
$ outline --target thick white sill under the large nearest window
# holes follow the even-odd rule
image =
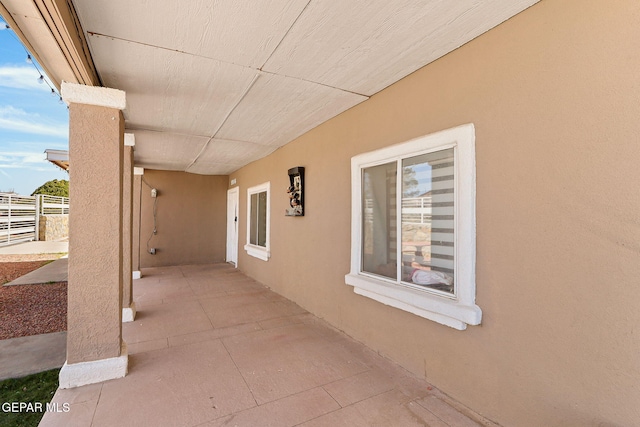
[[[467,304],[358,274],[347,274],[345,282],[358,295],[461,331],[482,320],[482,310],[473,302]]]

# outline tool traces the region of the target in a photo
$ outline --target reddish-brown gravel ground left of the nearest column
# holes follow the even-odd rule
[[[40,268],[52,258],[56,256],[2,255],[0,285]],[[0,340],[66,329],[66,282],[0,286]]]

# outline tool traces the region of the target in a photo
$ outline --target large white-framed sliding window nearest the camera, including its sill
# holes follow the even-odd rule
[[[475,131],[464,125],[352,159],[356,293],[456,329],[475,305]]]

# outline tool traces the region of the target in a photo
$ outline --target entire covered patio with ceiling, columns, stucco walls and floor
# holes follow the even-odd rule
[[[489,425],[429,384],[504,426],[639,424],[639,2],[0,15],[69,106],[43,425]]]

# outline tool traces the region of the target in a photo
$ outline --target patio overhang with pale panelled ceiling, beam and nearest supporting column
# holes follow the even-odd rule
[[[70,105],[61,387],[127,371],[125,187],[134,165],[228,175],[537,1],[0,0],[0,14]],[[125,131],[135,139],[130,163]]]

